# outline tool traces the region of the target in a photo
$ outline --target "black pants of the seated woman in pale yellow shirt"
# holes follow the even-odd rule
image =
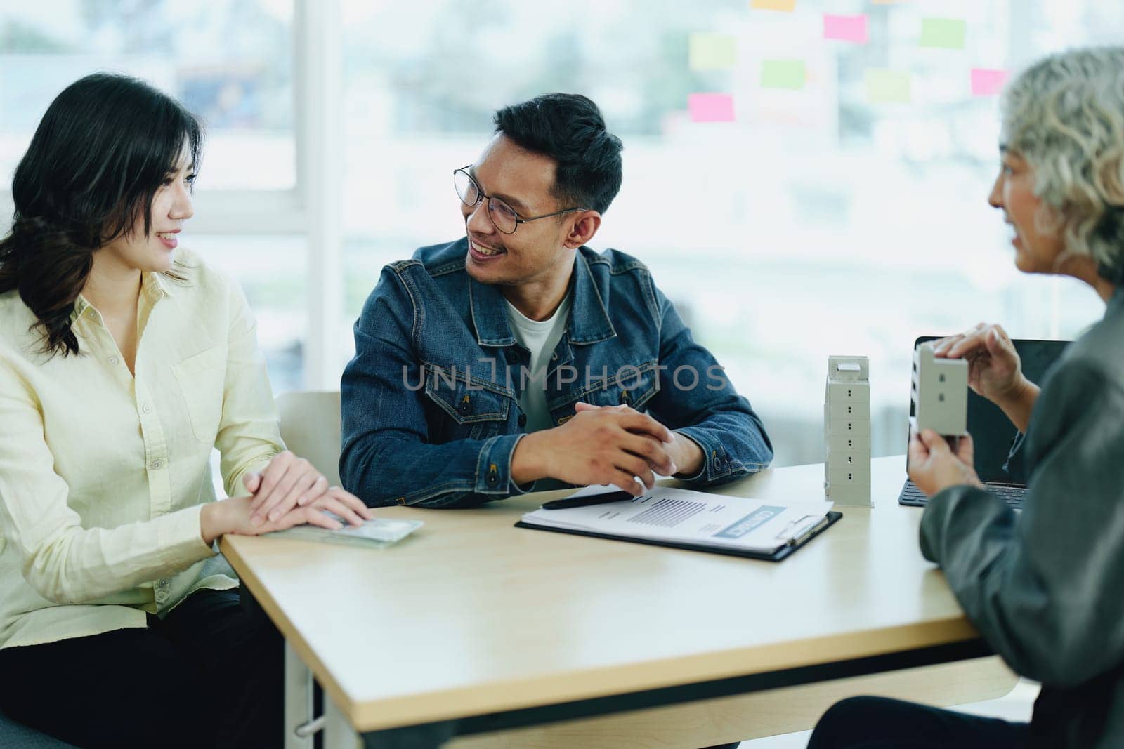
[[[280,747],[284,646],[238,591],[147,629],[0,650],[0,710],[79,747]]]

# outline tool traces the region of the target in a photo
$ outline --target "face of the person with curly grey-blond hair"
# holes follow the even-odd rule
[[[1058,273],[1058,257],[1066,248],[1061,231],[1045,234],[1035,226],[1042,199],[1034,194],[1034,167],[1017,152],[1001,148],[999,175],[988,203],[1003,210],[1015,230],[1015,266],[1023,273]]]

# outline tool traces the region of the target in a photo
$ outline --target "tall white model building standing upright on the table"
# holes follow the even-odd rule
[[[827,357],[824,437],[827,499],[836,504],[871,506],[870,362],[865,356]]]

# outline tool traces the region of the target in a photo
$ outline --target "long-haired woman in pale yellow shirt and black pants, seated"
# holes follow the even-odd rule
[[[73,83],[0,241],[0,711],[82,747],[280,746],[281,640],[214,542],[370,517],[284,450],[245,296],[176,247],[201,140]]]

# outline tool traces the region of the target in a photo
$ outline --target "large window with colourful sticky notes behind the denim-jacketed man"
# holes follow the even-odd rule
[[[647,263],[779,465],[822,459],[831,354],[871,358],[874,451],[896,454],[915,337],[979,320],[1072,337],[1099,314],[1077,282],[1012,266],[986,204],[996,100],[972,71],[1118,29],[1117,3],[750,6],[345,0],[347,317],[383,263],[463,234],[450,172],[496,108],[545,91],[588,94],[625,143],[592,245]],[[868,40],[825,39],[825,13],[864,16]],[[694,121],[695,93],[729,95],[734,121]]]

